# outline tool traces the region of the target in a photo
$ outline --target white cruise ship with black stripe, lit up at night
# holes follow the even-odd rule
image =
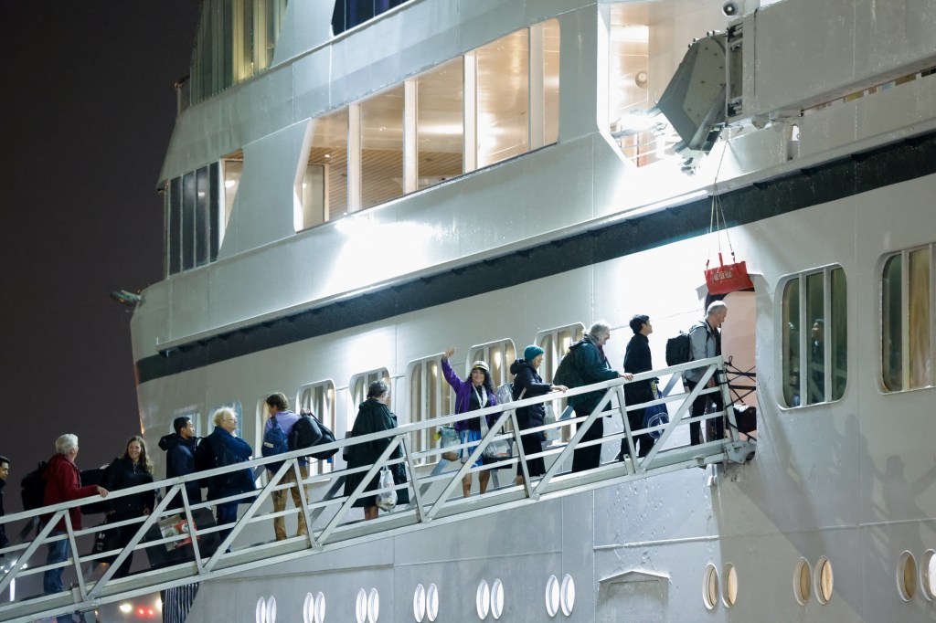
[[[562,495],[515,457],[463,514],[306,509],[348,540],[257,554],[176,620],[936,620],[934,33],[936,0],[204,0],[131,324],[148,442],[230,407],[258,449],[274,392],[342,440],[385,380],[411,476],[443,478],[446,348],[505,384],[535,344],[549,381],[603,319],[622,369],[638,313],[673,426],[619,462],[606,418],[579,478],[553,396]],[[723,261],[750,284],[709,291]],[[665,346],[716,299],[756,430],[694,456]]]

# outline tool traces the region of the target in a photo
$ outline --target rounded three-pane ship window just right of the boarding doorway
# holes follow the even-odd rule
[[[848,377],[844,271],[826,267],[800,273],[782,283],[782,293],[785,405],[799,407],[840,399]]]

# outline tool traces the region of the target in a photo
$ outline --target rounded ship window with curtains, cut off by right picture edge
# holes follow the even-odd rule
[[[936,312],[933,254],[936,244],[886,258],[881,277],[881,367],[885,391],[936,384]]]

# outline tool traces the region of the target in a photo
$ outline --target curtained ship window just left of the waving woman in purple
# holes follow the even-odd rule
[[[452,413],[452,388],[442,375],[439,355],[410,363],[406,372],[410,390],[409,413],[411,422],[425,422]],[[425,452],[434,445],[437,429],[424,428],[414,433],[413,452]],[[417,465],[436,463],[439,456],[419,456]]]

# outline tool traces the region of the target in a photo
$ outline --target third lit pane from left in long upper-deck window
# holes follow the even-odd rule
[[[461,57],[417,78],[417,188],[464,172],[464,85]]]

